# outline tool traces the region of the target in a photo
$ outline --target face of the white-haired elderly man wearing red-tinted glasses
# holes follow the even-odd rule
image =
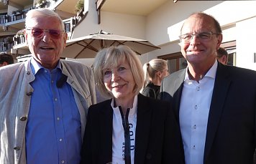
[[[42,67],[55,68],[67,39],[67,34],[63,32],[59,19],[50,16],[37,16],[30,19],[26,28],[25,37],[32,57]],[[54,30],[48,31],[49,29]]]

